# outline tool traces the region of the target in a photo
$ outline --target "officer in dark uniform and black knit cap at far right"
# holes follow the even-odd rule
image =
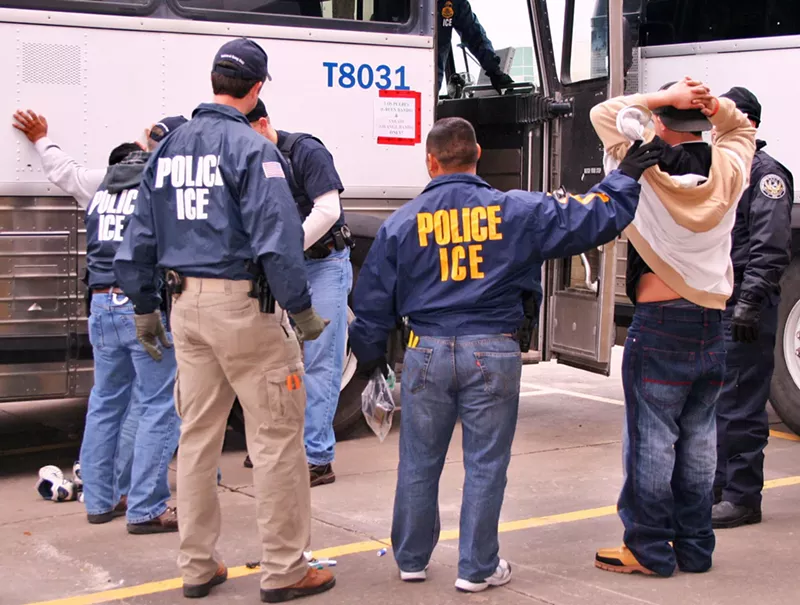
[[[737,86],[724,95],[754,128],[761,124],[756,96]],[[750,187],[733,227],[733,296],[723,322],[727,351],[725,386],[717,402],[716,529],[761,521],[764,448],[769,438],[767,400],[775,369],[780,281],[792,243],[792,173],[756,141]]]

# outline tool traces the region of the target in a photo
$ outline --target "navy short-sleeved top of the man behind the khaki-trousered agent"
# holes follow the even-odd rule
[[[322,144],[322,141],[310,134],[296,133],[297,142],[289,152],[288,149],[284,150],[284,147],[292,133],[283,130],[277,132],[278,149],[284,154],[290,168],[287,176],[294,176],[294,178],[289,178],[289,187],[297,208],[300,210],[300,216],[305,222],[314,208],[315,199],[329,191],[338,191],[341,194],[344,191],[344,185],[336,171],[333,156]],[[341,202],[339,209],[339,219],[334,227],[341,228],[344,225],[344,210],[341,208]]]

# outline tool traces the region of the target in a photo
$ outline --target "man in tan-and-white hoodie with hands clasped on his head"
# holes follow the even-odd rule
[[[625,482],[617,509],[624,545],[600,569],[670,576],[711,568],[715,404],[725,376],[722,311],[733,291],[731,229],[747,186],[755,129],[729,99],[685,78],[591,111],[613,169],[632,141],[664,148],[645,175],[625,230],[635,305],[622,360]],[[716,127],[713,147],[702,131]]]

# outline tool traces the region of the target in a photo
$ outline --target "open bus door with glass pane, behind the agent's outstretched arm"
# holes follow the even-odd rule
[[[623,89],[622,0],[534,0],[532,6],[546,94],[570,107],[545,125],[545,184],[549,191],[585,192],[604,176],[589,111]],[[615,242],[547,263],[544,359],[609,374],[616,268]]]

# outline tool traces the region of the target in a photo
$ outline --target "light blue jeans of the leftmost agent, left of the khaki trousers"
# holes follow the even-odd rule
[[[163,514],[170,497],[167,465],[179,435],[173,402],[175,352],[162,349],[163,359],[154,361],[136,339],[133,305],[112,294],[93,295],[89,339],[94,386],[80,453],[86,512],[110,512],[119,499],[115,488],[120,431],[131,404],[128,418],[138,417],[138,427],[127,517],[129,523],[143,523]]]

